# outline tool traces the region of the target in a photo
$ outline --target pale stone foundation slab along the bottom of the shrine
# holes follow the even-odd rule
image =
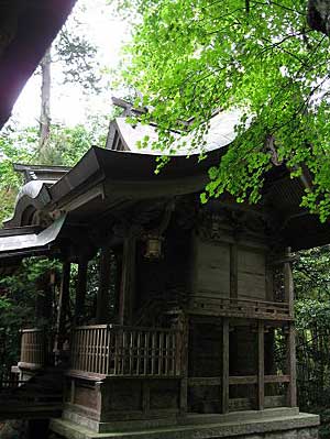
[[[319,417],[298,408],[240,411],[228,415],[191,415],[172,419],[90,422],[64,413],[51,430],[66,439],[317,439]]]

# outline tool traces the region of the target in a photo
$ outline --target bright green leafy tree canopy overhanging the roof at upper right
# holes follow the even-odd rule
[[[322,221],[330,213],[329,39],[308,28],[306,0],[127,0],[140,19],[128,47],[125,83],[153,111],[168,147],[169,129],[194,118],[196,143],[215,109],[240,108],[239,136],[210,169],[205,200],[224,190],[260,198],[264,172],[301,163],[314,189],[302,204]],[[246,120],[251,124],[248,129]],[[270,144],[273,146],[270,147]]]

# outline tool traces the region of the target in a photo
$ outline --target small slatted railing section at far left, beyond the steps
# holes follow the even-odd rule
[[[23,329],[21,340],[21,363],[41,366],[45,364],[46,337],[42,329]]]

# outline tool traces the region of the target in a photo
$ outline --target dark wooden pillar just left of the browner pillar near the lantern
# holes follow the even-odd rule
[[[100,254],[100,281],[97,296],[97,323],[109,322],[109,292],[110,292],[110,267],[112,252],[109,248],[101,249]]]

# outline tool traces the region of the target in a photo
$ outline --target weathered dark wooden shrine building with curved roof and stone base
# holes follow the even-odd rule
[[[297,407],[290,252],[329,243],[330,229],[299,206],[308,175],[292,179],[285,164],[265,176],[258,205],[200,204],[233,125],[234,114],[215,116],[207,158],[174,156],[157,175],[155,156],[135,151],[154,128],[123,117],[107,149],[72,169],[15,165],[25,184],[0,231],[2,270],[47,255],[63,279],[55,341],[24,328],[19,371],[34,376],[0,393],[2,419],[50,418],[68,439],[317,438],[318,416]],[[52,376],[56,392],[43,393]]]

